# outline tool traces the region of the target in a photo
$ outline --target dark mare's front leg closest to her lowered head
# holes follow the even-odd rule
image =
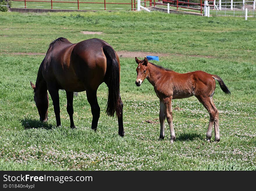
[[[61,126],[59,90],[55,88],[48,88],[48,91],[51,95],[53,103],[54,113],[56,117],[56,126]]]

